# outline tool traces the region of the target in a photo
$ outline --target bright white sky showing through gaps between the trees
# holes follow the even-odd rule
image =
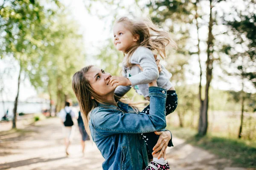
[[[85,0],[86,1],[86,0]],[[143,0],[144,2],[146,0]],[[140,1],[140,3],[143,3],[143,1]],[[102,43],[105,43],[105,40],[107,40],[109,37],[113,36],[112,30],[111,30],[111,16],[109,16],[107,19],[99,19],[96,15],[88,14],[87,10],[84,7],[84,1],[83,0],[61,0],[61,2],[64,3],[65,6],[67,6],[71,13],[72,17],[78,21],[78,23],[81,25],[81,32],[84,36],[84,43],[85,43],[85,49],[87,52],[87,56],[90,57],[97,52],[99,52],[99,47],[102,45]],[[128,5],[133,3],[132,0],[125,1]],[[100,9],[99,12],[105,13],[105,8],[102,7],[101,4],[97,4],[98,8]],[[133,12],[137,15],[140,15],[139,10],[131,9]],[[127,13],[127,12],[126,12]],[[120,10],[119,15],[126,14],[125,11]],[[202,32],[207,32],[207,28],[202,28]],[[196,33],[194,34],[196,35]],[[201,56],[201,58],[205,58],[205,56]],[[16,64],[16,70],[15,72],[12,72],[12,77],[6,78],[6,84],[9,86],[8,92],[6,92],[6,96],[4,96],[4,100],[8,101],[14,101],[15,96],[17,94],[17,77],[18,77],[18,66]],[[86,63],[92,64],[92,63]],[[95,64],[95,63],[94,63]],[[199,82],[199,66],[198,66],[198,59],[192,58],[190,61],[191,67],[195,70],[195,73],[197,75],[192,75],[187,73],[187,80],[190,83],[196,83]],[[5,67],[5,64],[3,61],[0,60],[0,69],[3,69]],[[224,74],[222,73],[221,69],[215,68],[215,72],[218,72],[218,74],[215,76],[221,76],[223,77]],[[24,77],[24,76],[23,76]],[[230,78],[229,82],[226,81],[220,81],[218,78],[214,78],[211,83],[213,88],[218,89],[234,89],[234,90],[240,90],[241,89],[241,82],[239,82],[235,78]],[[255,92],[255,91],[254,91]],[[25,81],[23,81],[22,84],[20,84],[20,95],[19,100],[25,101],[26,98],[29,98],[31,96],[37,95],[37,92],[35,91],[34,87],[31,86],[29,83],[29,80],[25,78]],[[1,101],[0,97],[0,101]]]

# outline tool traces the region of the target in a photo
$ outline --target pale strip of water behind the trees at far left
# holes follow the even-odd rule
[[[0,102],[0,120],[3,115],[6,113],[6,110],[9,109],[8,117],[13,116],[13,101]],[[49,109],[49,103],[28,103],[28,102],[18,102],[17,113],[41,113],[42,109]]]

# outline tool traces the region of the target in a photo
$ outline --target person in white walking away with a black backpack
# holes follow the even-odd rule
[[[71,144],[73,133],[75,131],[75,126],[73,126],[75,122],[74,119],[78,117],[76,111],[71,106],[72,101],[68,99],[65,101],[64,109],[61,109],[58,114],[58,116],[61,118],[61,123],[63,124],[62,131],[64,135],[65,150],[67,156],[69,155],[68,147]]]

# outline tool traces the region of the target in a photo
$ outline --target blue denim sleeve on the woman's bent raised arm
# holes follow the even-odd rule
[[[112,108],[97,107],[91,112],[91,124],[101,135],[148,133],[166,127],[166,89],[149,87],[150,110],[145,113],[122,113]]]

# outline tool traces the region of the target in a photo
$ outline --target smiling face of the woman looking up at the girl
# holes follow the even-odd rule
[[[104,72],[95,66],[89,69],[86,73],[85,78],[90,82],[90,86],[94,92],[104,97],[114,92],[114,87],[109,84],[111,74]]]

